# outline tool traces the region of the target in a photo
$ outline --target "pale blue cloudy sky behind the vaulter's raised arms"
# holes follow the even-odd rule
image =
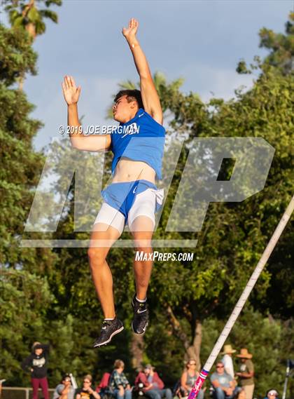
[[[151,72],[164,73],[167,81],[183,77],[181,90],[198,93],[204,101],[213,95],[228,100],[236,88],[253,83],[254,76],[235,71],[239,60],[267,54],[258,47],[259,30],[284,32],[291,9],[288,0],[63,0],[61,7],[52,7],[58,24],[48,20],[45,34],[34,43],[38,75],[27,76],[24,84],[36,106],[31,116],[44,123],[34,146],[41,149],[59,136],[59,126],[66,126],[65,74],[82,87],[78,110],[83,125],[109,124],[106,109],[118,83],[139,81],[121,34],[130,18],[139,20],[138,38]]]

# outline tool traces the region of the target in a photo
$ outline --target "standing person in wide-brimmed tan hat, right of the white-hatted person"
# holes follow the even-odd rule
[[[244,388],[246,399],[252,399],[254,391],[254,366],[250,360],[252,355],[248,353],[246,348],[242,348],[240,353],[236,356],[241,360],[240,371],[236,373],[240,379],[239,385]]]

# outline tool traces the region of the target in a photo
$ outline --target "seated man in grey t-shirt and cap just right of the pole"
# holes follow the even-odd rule
[[[234,388],[233,379],[225,372],[223,362],[216,363],[216,372],[211,374],[210,379],[214,387],[214,399],[232,399],[237,394],[238,388]]]

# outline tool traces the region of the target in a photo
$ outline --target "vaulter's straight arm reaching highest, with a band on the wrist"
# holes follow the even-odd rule
[[[155,121],[162,124],[162,109],[160,106],[158,92],[154,86],[146,56],[141,49],[136,36],[138,27],[139,22],[132,18],[129,22],[129,26],[127,28],[123,28],[123,36],[125,36],[125,39],[130,46],[132,55],[134,57],[134,63],[140,76],[140,88],[144,109],[146,112],[148,112],[148,114],[151,114]]]

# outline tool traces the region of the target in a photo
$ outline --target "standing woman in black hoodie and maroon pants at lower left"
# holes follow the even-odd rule
[[[31,354],[22,361],[22,370],[31,373],[33,399],[38,399],[39,386],[42,388],[44,399],[49,399],[47,380],[48,350],[49,345],[34,342],[31,347]]]

